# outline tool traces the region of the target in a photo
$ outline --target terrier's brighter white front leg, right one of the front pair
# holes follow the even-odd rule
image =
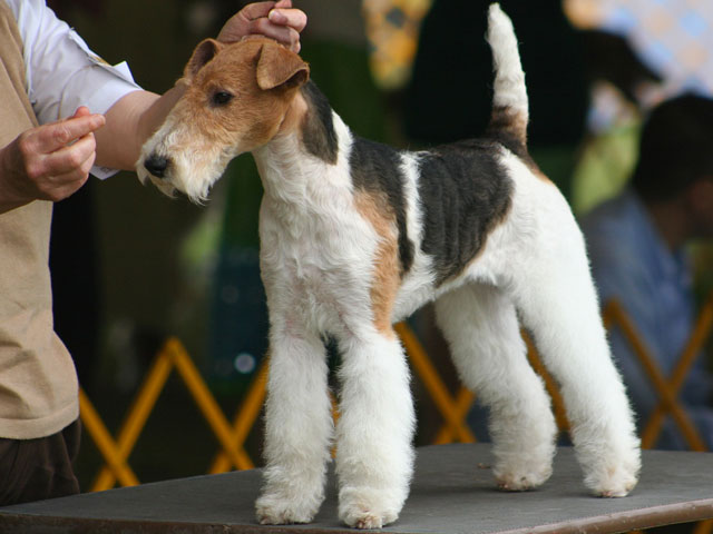
[[[340,339],[339,515],[350,526],[392,523],[409,493],[413,405],[403,349],[391,330]]]

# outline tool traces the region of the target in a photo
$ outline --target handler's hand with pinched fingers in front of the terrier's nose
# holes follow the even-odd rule
[[[29,129],[0,150],[0,212],[36,199],[58,201],[79,189],[94,165],[102,115],[86,107]]]

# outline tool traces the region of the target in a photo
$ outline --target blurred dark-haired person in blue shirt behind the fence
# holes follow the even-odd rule
[[[713,237],[713,100],[684,95],[644,122],[631,185],[582,220],[603,303],[616,299],[665,376],[691,337],[695,300],[686,245]],[[612,348],[644,425],[658,397],[618,329]],[[687,414],[713,447],[713,376],[699,358],[681,389]],[[670,421],[660,448],[685,448]]]

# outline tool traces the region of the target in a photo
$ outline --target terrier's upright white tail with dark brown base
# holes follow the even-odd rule
[[[525,147],[529,120],[525,72],[512,22],[498,3],[490,4],[488,11],[487,39],[495,70],[490,129],[514,136]]]

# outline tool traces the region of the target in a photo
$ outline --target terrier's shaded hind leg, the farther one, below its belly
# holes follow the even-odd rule
[[[441,296],[436,314],[461,379],[490,407],[498,484],[539,486],[551,474],[557,427],[527,362],[514,305],[502,290],[471,284]]]

